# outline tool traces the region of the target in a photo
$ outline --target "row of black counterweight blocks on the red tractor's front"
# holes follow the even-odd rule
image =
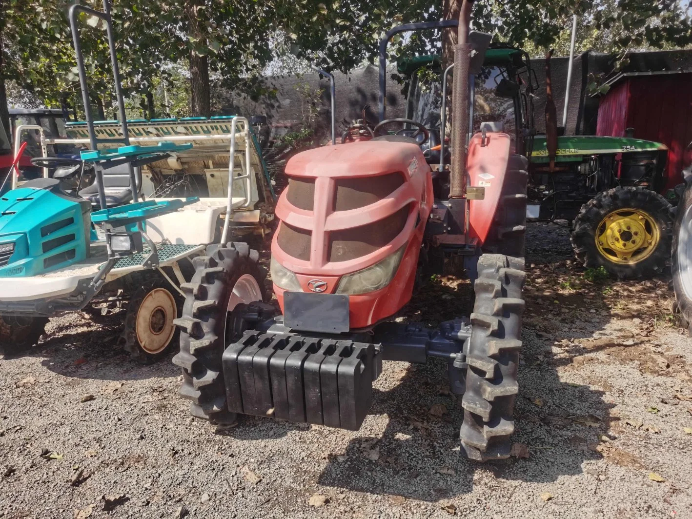
[[[231,412],[358,430],[382,354],[352,340],[246,331],[223,366]]]

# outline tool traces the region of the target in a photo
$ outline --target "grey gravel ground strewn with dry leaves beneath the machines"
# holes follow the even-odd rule
[[[122,313],[71,315],[0,361],[0,517],[692,517],[692,340],[668,279],[589,282],[555,225],[527,253],[516,457],[459,456],[442,363],[385,363],[358,432],[215,430],[170,361],[120,352]],[[437,280],[406,318],[462,313],[468,288]]]

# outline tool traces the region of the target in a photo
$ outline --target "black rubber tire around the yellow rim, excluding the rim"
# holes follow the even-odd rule
[[[601,222],[611,212],[632,208],[645,212],[659,233],[655,249],[641,261],[632,264],[614,262],[599,251],[596,244]],[[570,240],[574,256],[585,268],[605,268],[618,279],[652,277],[661,274],[670,257],[673,231],[673,207],[655,191],[646,188],[613,188],[597,194],[581,206],[574,219]]]

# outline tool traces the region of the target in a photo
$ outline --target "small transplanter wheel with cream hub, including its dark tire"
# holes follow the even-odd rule
[[[179,314],[179,300],[172,289],[157,283],[140,286],[127,306],[124,348],[134,360],[152,363],[165,356],[178,335],[173,321]]]

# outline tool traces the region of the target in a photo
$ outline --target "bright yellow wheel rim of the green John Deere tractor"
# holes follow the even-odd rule
[[[618,209],[606,215],[596,231],[596,246],[613,263],[632,265],[656,250],[661,233],[656,221],[640,209]]]

